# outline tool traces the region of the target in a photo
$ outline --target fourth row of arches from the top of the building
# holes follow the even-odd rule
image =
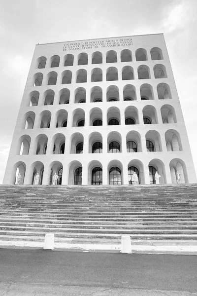
[[[81,108],[77,108],[71,113],[71,126],[84,126],[85,125],[85,113]],[[106,124],[107,125],[130,125],[139,124],[139,112],[134,106],[128,106],[125,108],[125,122],[121,122],[121,112],[117,107],[110,107],[106,111]],[[51,126],[51,112],[48,110],[40,112],[38,115],[37,126],[35,128],[55,128],[55,127],[67,127],[68,112],[65,109],[57,111],[55,114],[54,126]],[[144,124],[157,124],[158,114],[157,110],[152,105],[146,105],[142,109],[143,123]],[[175,110],[171,105],[163,105],[161,107],[161,116],[163,123],[177,123]],[[88,114],[90,126],[102,126],[103,116],[102,110],[98,107],[92,108]],[[24,115],[22,122],[22,129],[33,129],[35,121],[35,113],[29,111]]]

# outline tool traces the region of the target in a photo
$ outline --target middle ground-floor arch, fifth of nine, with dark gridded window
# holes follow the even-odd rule
[[[88,163],[88,185],[102,185],[102,164],[98,160]]]

